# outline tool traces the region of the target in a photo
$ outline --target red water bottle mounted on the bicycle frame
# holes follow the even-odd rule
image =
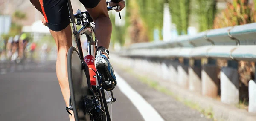
[[[91,81],[91,85],[95,85],[96,86],[96,68],[94,65],[94,57],[92,55],[86,55],[84,57],[84,61],[85,63],[87,63],[88,67],[89,67],[89,74],[90,74],[90,81]]]

